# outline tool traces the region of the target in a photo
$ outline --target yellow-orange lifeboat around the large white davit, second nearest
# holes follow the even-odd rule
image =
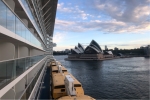
[[[70,75],[74,80],[74,89],[76,90],[77,95],[84,95],[84,90],[81,83],[75,79],[70,73],[55,73],[52,75],[53,84],[52,84],[52,96],[54,99],[60,98],[62,96],[67,96],[67,91],[65,87],[65,76]]]

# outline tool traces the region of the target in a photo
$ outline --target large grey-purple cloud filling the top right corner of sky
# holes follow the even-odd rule
[[[88,0],[93,11],[110,16],[117,21],[139,23],[150,14],[150,0]]]

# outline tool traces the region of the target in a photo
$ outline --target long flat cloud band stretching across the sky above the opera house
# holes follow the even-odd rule
[[[91,20],[89,22],[74,22],[56,19],[55,28],[62,31],[84,32],[89,30],[103,31],[105,33],[144,33],[150,31],[150,23],[143,22],[140,25],[128,24],[121,21]]]

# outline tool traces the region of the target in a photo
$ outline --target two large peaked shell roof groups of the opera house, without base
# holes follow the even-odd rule
[[[92,40],[89,46],[85,49],[82,44],[78,43],[78,46],[75,46],[74,49],[71,49],[71,54],[99,54],[103,53],[99,44]]]

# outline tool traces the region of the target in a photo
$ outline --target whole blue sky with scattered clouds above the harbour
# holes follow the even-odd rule
[[[58,0],[53,49],[134,49],[150,44],[150,0]]]

